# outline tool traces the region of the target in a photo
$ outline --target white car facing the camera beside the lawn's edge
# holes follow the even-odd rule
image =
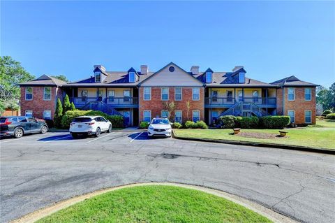
[[[148,136],[171,137],[171,124],[167,118],[154,118],[148,127]]]

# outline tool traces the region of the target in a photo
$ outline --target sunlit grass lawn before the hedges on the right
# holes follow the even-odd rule
[[[279,129],[241,129],[241,132],[253,134],[278,134]],[[285,138],[249,138],[232,135],[232,129],[176,129],[177,136],[187,138],[225,139],[231,141],[248,141],[256,143],[277,143],[285,145],[302,145],[313,148],[335,150],[335,122],[318,120],[315,125],[304,128],[285,129]]]

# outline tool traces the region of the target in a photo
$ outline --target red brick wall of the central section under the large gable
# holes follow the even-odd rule
[[[161,87],[151,87],[150,101],[143,100],[143,89],[144,87],[140,87],[140,122],[143,120],[144,110],[151,110],[151,119],[156,116],[161,117],[161,112],[162,110],[164,110],[163,103],[165,102],[161,100]],[[182,100],[175,101],[174,87],[169,87],[169,101],[174,101],[174,103],[176,104],[176,110],[182,111],[183,122],[186,122],[186,120],[192,120],[192,110],[200,110],[200,120],[204,120],[204,87],[200,87],[199,101],[192,100],[192,87],[182,87]],[[188,118],[186,106],[187,101],[190,102]],[[172,114],[172,117],[174,117],[174,114]]]

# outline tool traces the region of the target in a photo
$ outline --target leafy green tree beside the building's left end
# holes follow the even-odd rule
[[[0,104],[5,108],[18,108],[20,87],[18,84],[33,80],[34,75],[28,73],[20,62],[12,57],[0,57]],[[8,107],[9,106],[9,107]]]

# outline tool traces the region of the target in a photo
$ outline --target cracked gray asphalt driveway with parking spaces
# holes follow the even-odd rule
[[[221,189],[301,222],[332,222],[334,156],[240,145],[149,139],[112,132],[3,139],[1,222],[75,195],[132,182],[182,182]]]

